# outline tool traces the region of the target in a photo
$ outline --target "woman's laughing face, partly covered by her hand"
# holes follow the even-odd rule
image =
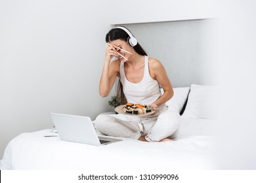
[[[121,39],[117,39],[117,40],[114,40],[114,41],[110,41],[108,42],[109,44],[112,44],[115,48],[116,48],[116,51],[121,54],[122,56],[124,56],[125,58],[129,59],[129,57],[131,56],[131,54],[127,53],[127,52],[124,52],[123,50],[126,50],[128,52],[132,52],[133,51],[133,47],[130,46],[130,44],[128,42],[125,42]],[[120,50],[121,48],[121,50]],[[127,61],[125,58],[123,58],[122,56],[119,56],[118,58],[121,60],[121,61]]]

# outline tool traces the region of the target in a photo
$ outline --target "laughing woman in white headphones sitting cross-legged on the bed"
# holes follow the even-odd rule
[[[95,127],[114,137],[129,137],[140,141],[171,141],[177,136],[180,115],[167,110],[165,102],[173,97],[173,88],[158,59],[148,58],[137,39],[125,27],[111,29],[106,35],[106,57],[99,92],[107,97],[116,77],[121,103],[150,105],[156,112],[150,116],[100,114]],[[113,57],[117,59],[111,61]],[[163,95],[160,92],[163,88]]]

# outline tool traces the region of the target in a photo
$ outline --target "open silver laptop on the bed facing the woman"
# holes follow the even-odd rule
[[[79,142],[100,146],[121,141],[108,137],[98,137],[91,118],[87,116],[74,116],[68,114],[50,113],[53,124],[63,141]]]

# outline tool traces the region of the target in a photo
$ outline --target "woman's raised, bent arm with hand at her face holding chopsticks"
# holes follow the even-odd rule
[[[119,60],[110,62],[113,56],[118,57],[115,48],[113,46],[109,46],[108,48],[106,48],[105,62],[102,69],[102,75],[100,77],[99,92],[100,96],[102,97],[108,96],[108,94],[112,90],[112,87],[116,80],[116,76],[119,73]]]

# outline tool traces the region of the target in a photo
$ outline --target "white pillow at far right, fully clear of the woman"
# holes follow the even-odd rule
[[[214,119],[216,108],[217,86],[191,84],[182,117]]]

